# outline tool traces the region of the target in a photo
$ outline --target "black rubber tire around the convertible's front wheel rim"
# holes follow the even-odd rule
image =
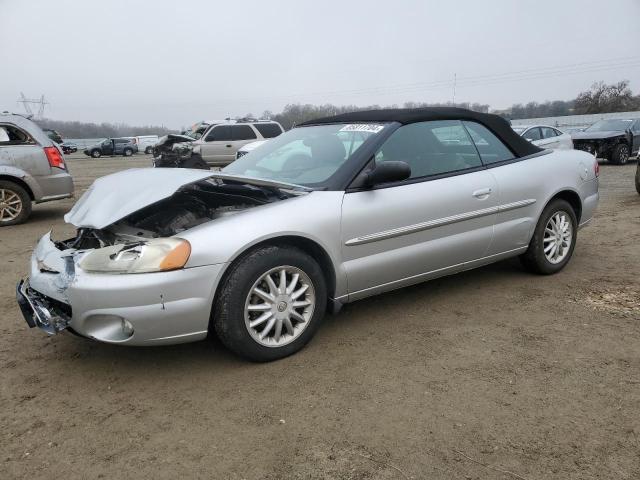
[[[306,327],[297,338],[279,347],[258,343],[245,324],[244,309],[253,284],[266,272],[281,266],[295,267],[311,280],[315,306]],[[230,267],[213,308],[211,323],[220,341],[232,352],[254,361],[284,358],[304,347],[318,330],[327,306],[327,288],[318,263],[293,247],[268,246],[241,257]]]

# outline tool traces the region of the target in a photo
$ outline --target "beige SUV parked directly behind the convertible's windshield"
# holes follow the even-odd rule
[[[277,137],[283,131],[278,122],[262,120],[211,125],[193,142],[193,155],[210,166],[225,166],[235,160],[243,145]]]

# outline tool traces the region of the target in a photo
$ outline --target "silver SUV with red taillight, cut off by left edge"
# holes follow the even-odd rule
[[[31,203],[73,196],[64,155],[31,120],[0,114],[0,227],[24,222]]]

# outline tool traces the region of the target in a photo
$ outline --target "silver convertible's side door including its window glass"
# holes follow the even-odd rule
[[[385,160],[407,162],[411,177],[344,196],[349,300],[462,270],[493,238],[496,181],[461,122],[400,127],[375,155]]]

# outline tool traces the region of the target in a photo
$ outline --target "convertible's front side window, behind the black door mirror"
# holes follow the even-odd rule
[[[380,147],[376,163],[400,160],[411,167],[411,177],[428,177],[481,167],[482,162],[462,122],[412,123],[400,127]]]

